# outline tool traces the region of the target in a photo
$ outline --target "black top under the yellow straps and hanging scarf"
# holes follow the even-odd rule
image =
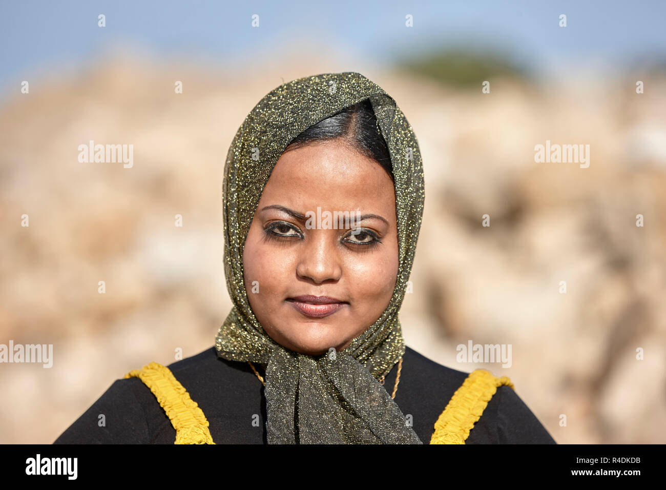
[[[256,368],[263,374],[260,366]],[[211,347],[168,369],[202,409],[216,444],[266,444],[264,386],[248,363],[221,359]],[[396,365],[386,376],[384,388],[389,393],[397,371]],[[406,347],[394,400],[404,415],[412,415],[412,427],[423,443],[430,443],[435,421],[467,376]],[[101,414],[105,427],[98,425]],[[155,395],[141,379],[132,377],[115,381],[55,444],[173,444],[175,440],[176,430]],[[508,386],[498,387],[465,442],[555,444]]]

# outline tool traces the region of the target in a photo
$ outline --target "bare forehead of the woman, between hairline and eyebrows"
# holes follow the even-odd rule
[[[266,201],[276,199],[296,207],[360,207],[366,211],[372,206],[384,213],[395,209],[394,186],[388,173],[374,159],[338,141],[312,143],[282,154],[261,202],[270,205],[273,203]]]

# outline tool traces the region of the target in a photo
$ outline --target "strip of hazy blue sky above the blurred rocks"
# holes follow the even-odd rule
[[[97,27],[97,15],[107,27]],[[252,14],[260,28],[250,26]],[[567,27],[557,25],[561,13]],[[405,15],[414,27],[405,27]],[[537,70],[666,57],[666,1],[7,1],[0,82],[44,65],[85,65],[122,42],[155,57],[242,60],[283,39],[316,37],[390,62],[433,45],[505,51]],[[296,55],[297,53],[294,53]]]

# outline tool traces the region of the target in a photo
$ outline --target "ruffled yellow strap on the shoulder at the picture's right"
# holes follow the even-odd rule
[[[435,422],[430,444],[464,444],[501,385],[515,390],[506,376],[495,377],[486,369],[472,371]]]

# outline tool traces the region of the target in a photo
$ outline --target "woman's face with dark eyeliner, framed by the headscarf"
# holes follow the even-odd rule
[[[341,226],[344,211],[361,220]],[[243,252],[245,289],[266,333],[308,355],[348,347],[392,297],[397,232],[394,185],[379,163],[339,140],[283,153]]]

